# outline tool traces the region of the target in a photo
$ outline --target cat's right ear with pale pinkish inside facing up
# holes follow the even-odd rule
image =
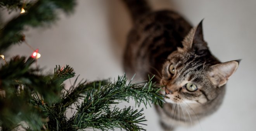
[[[233,60],[210,67],[209,78],[218,87],[227,83],[228,78],[237,70],[240,60]]]

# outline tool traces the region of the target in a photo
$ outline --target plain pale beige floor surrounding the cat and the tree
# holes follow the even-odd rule
[[[256,1],[255,0],[150,0],[154,9],[171,8],[192,25],[204,18],[204,38],[222,62],[242,59],[227,84],[220,109],[192,128],[177,131],[253,131],[256,129]],[[123,75],[122,54],[130,15],[121,0],[78,0],[73,15],[61,14],[50,28],[26,29],[26,40],[38,48],[38,65],[52,72],[55,65],[70,65],[89,81]],[[6,55],[32,54],[28,46],[13,46]],[[71,80],[73,81],[73,79]],[[67,82],[69,85],[69,82]],[[120,106],[133,106],[123,103]],[[141,108],[141,107],[140,107]],[[160,131],[154,108],[144,111],[148,131]],[[119,129],[116,129],[119,130]]]

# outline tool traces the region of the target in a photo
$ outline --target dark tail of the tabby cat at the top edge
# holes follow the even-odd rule
[[[133,22],[151,12],[151,8],[146,0],[123,0],[123,2],[130,10]]]

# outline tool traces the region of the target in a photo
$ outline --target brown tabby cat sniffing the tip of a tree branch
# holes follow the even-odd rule
[[[123,0],[133,27],[124,54],[126,74],[163,86],[165,104],[156,106],[160,124],[172,131],[214,113],[225,95],[225,84],[240,60],[221,63],[203,38],[202,21],[194,28],[170,10],[153,11],[145,0]]]

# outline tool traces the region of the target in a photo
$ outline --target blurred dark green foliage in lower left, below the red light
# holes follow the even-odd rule
[[[26,121],[32,129],[40,130],[47,122],[47,116],[38,106],[38,101],[41,105],[43,101],[51,105],[60,100],[63,77],[39,75],[38,69],[30,67],[33,62],[32,58],[26,60],[16,56],[0,68],[0,89],[5,92],[4,96],[0,95],[0,126],[3,130],[14,129],[21,121]],[[72,68],[64,71],[60,73],[74,74]]]

